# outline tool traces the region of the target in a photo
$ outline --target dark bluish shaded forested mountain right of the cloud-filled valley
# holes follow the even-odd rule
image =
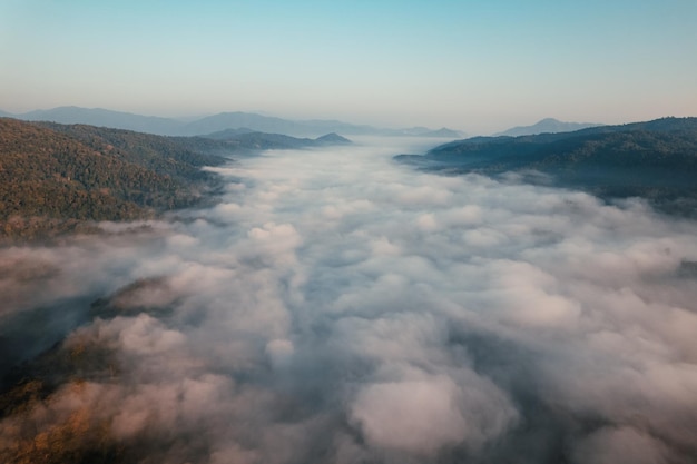
[[[697,217],[697,118],[662,118],[573,132],[477,137],[396,159],[428,170],[578,188],[607,200],[641,197]]]

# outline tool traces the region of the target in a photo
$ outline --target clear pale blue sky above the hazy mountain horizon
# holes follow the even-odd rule
[[[0,109],[471,134],[697,116],[697,1],[0,0]]]

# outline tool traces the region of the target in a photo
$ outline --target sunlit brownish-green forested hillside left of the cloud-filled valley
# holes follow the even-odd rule
[[[217,150],[217,151],[216,151]],[[30,239],[196,204],[225,146],[0,118],[0,238]]]

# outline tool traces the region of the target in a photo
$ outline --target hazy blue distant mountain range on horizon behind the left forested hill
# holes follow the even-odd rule
[[[293,121],[252,112],[220,112],[194,121],[184,122],[173,118],[141,116],[130,112],[111,111],[101,108],[59,107],[21,115],[0,112],[0,116],[29,121],[51,121],[59,124],[86,124],[111,127],[161,136],[198,136],[226,129],[246,128],[249,131],[284,134],[293,137],[317,137],[327,132],[348,136],[419,136],[462,138],[463,134],[452,129],[431,130],[425,127],[409,129],[385,129],[365,125],[353,125],[337,120]]]

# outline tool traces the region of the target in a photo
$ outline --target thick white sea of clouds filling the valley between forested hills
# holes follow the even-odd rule
[[[67,336],[119,365],[32,419],[89,407],[158,463],[694,462],[697,224],[400,144],[268,151],[212,169],[212,208],[0,250],[7,363]]]

